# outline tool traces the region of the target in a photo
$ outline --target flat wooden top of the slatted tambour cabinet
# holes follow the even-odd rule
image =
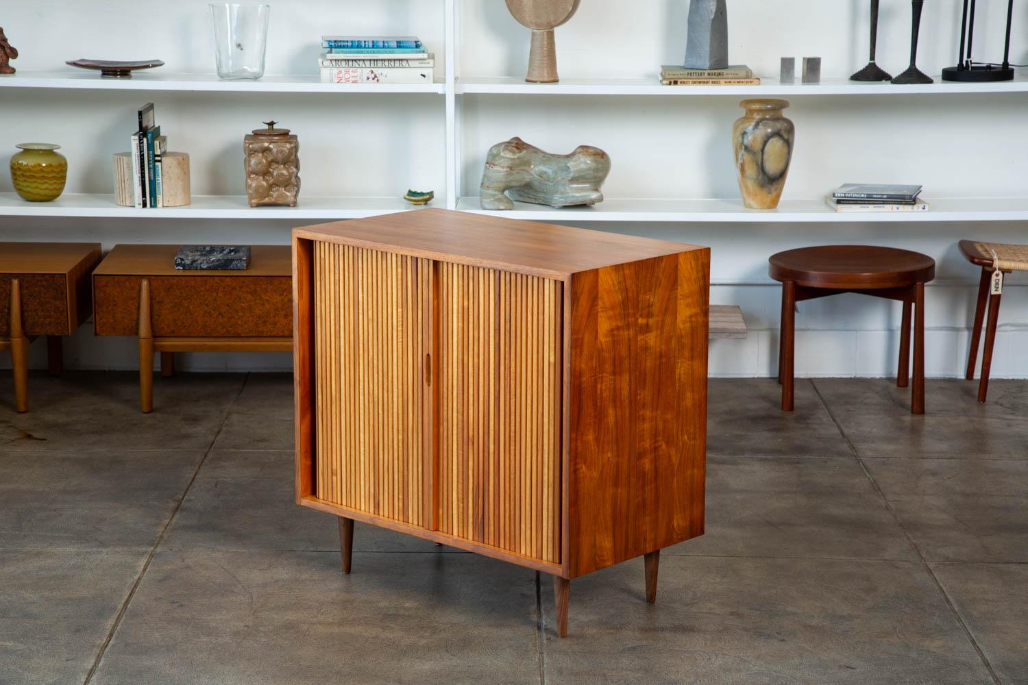
[[[568,215],[572,219],[574,216]],[[294,229],[293,236],[551,278],[704,250],[681,242],[446,210],[337,221]]]

